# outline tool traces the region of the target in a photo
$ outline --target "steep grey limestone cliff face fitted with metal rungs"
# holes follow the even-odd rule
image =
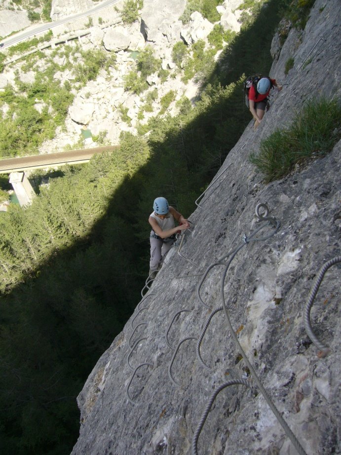
[[[218,395],[199,435],[198,454],[297,453],[241,358],[224,311],[213,315],[201,342],[209,368],[196,355],[209,315],[223,304],[222,287],[238,340],[305,453],[341,453],[340,266],[328,270],[311,311],[328,355],[318,355],[303,324],[314,276],[340,255],[341,145],[269,185],[248,161],[261,139],[289,124],[305,100],[340,97],[339,15],[338,0],[317,0],[301,36],[293,29],[281,49],[274,38],[270,76],[284,88],[256,133],[250,122],[222,166],[229,166],[226,172],[190,215],[193,229],[183,257],[177,247],[171,250],[144,291],[147,297],[93,369],[78,397],[81,427],[72,454],[190,454],[210,396],[228,379],[248,385]],[[289,57],[295,64],[285,76]],[[265,226],[255,218],[258,203],[268,204],[280,227],[266,226],[252,239],[268,238],[248,241]],[[233,257],[227,255],[238,246],[222,286]],[[201,286],[203,304],[197,289],[217,262],[223,265],[213,267]]]

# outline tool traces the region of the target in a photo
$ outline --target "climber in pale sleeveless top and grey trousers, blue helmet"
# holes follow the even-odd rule
[[[177,212],[175,208],[168,205],[168,201],[164,197],[157,197],[154,200],[153,209],[154,211],[148,220],[152,226],[149,271],[151,279],[155,278],[156,273],[162,266],[164,257],[173,246],[176,232],[189,227],[189,221],[181,213]],[[175,227],[174,219],[177,220],[180,226]]]

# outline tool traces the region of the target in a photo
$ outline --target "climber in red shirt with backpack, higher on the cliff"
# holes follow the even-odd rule
[[[265,108],[268,103],[267,96],[273,86],[277,87],[278,91],[282,90],[282,85],[276,82],[276,79],[270,79],[269,77],[258,78],[256,82],[255,78],[248,82],[247,88],[249,108],[255,121],[254,131],[258,128],[265,114]]]

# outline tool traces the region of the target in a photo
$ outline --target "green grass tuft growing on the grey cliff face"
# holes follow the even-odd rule
[[[296,165],[330,152],[341,138],[341,106],[336,99],[313,99],[295,115],[290,127],[275,130],[249,160],[265,183],[281,179]]]

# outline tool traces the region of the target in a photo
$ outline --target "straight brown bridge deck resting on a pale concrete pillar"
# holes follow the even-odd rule
[[[117,148],[118,146],[107,146],[97,147],[95,149],[81,149],[18,158],[5,158],[0,160],[0,174],[38,169],[40,167],[61,166],[63,164],[86,163],[95,153],[112,152]]]

